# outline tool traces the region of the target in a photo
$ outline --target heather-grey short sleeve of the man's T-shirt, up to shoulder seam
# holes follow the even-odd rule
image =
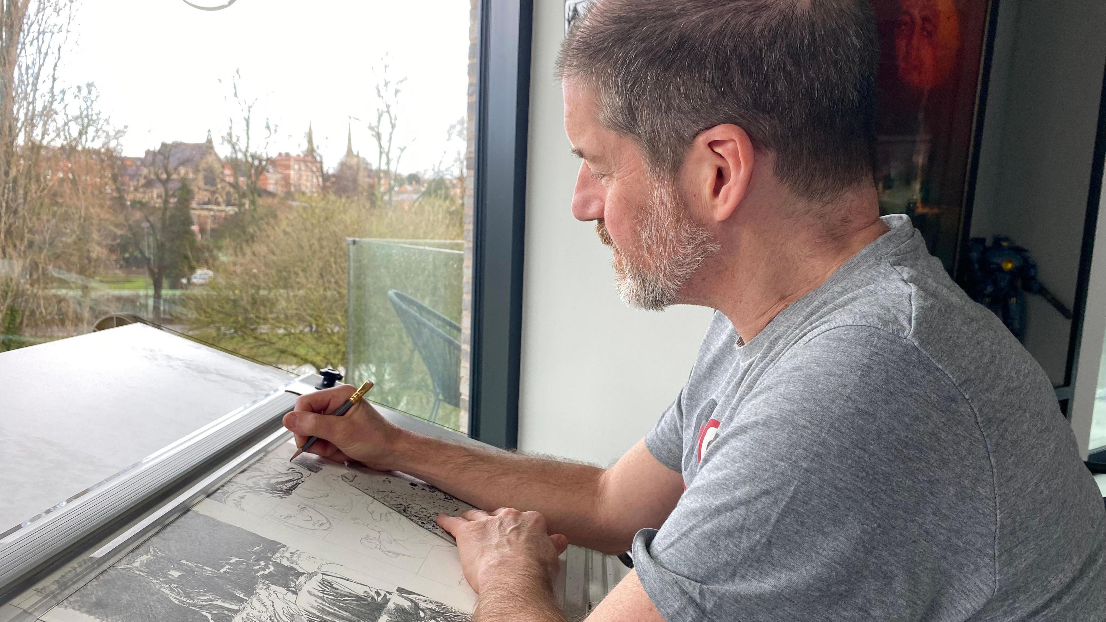
[[[993,517],[975,500],[989,467],[970,411],[909,342],[872,330],[778,362],[723,416],[661,528],[635,536],[668,622],[897,622],[985,602]],[[933,578],[961,572],[979,590],[950,604]]]

